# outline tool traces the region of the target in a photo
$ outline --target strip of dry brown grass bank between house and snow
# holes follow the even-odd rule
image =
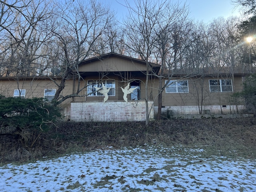
[[[0,162],[27,161],[43,156],[81,152],[104,146],[144,144],[204,148],[205,156],[256,158],[256,119],[172,119],[150,122],[60,122],[40,134],[33,148],[2,136]]]

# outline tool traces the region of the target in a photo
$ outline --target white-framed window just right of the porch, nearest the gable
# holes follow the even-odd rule
[[[168,81],[166,80],[165,83]],[[166,93],[188,93],[188,80],[171,80],[165,88]]]

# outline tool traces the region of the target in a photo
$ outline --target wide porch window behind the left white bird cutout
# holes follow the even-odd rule
[[[109,96],[115,96],[115,81],[108,81],[108,80],[103,80],[103,81],[88,81],[88,87],[87,87],[87,94],[88,96],[102,96],[100,92],[97,92],[96,88],[101,88],[102,83],[104,86],[108,89],[110,88],[108,95]]]

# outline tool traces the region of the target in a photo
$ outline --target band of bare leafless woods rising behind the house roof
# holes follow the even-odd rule
[[[188,18],[186,4],[135,2],[126,1],[129,14],[121,23],[97,0],[1,0],[0,76],[66,76],[82,60],[108,52],[172,71],[254,72],[254,42],[245,38],[254,35],[256,16],[206,24]]]

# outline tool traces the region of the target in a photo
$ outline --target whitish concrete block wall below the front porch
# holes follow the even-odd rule
[[[148,102],[148,108],[152,108],[153,102]],[[154,119],[154,109],[150,110],[149,119]],[[76,122],[105,121],[145,121],[146,102],[81,102],[71,103],[70,120]]]

